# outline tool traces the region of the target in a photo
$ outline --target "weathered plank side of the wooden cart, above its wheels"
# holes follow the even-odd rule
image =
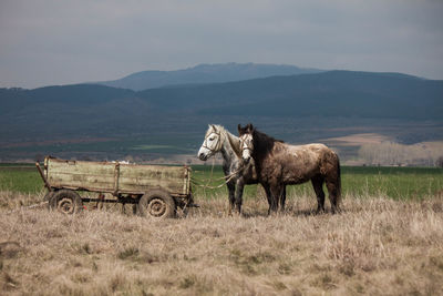
[[[143,194],[147,190],[163,188],[172,195],[190,194],[190,170],[186,166],[64,161],[47,157],[43,176],[48,184],[55,188],[113,194]]]

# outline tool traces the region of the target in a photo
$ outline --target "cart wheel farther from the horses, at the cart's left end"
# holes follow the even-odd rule
[[[79,213],[83,208],[82,197],[70,190],[61,190],[52,194],[49,201],[49,207],[52,211],[59,211],[63,214]]]

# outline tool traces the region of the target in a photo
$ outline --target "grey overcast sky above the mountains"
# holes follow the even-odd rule
[[[442,0],[0,0],[0,86],[255,62],[443,79]]]

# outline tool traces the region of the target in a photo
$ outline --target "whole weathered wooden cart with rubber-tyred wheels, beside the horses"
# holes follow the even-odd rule
[[[96,202],[97,206],[134,204],[140,215],[157,218],[174,217],[178,210],[197,206],[193,202],[187,166],[65,161],[51,156],[44,159],[43,171],[39,163],[35,166],[49,190],[50,208],[66,214],[82,211],[86,202]],[[81,196],[89,192],[99,196]]]

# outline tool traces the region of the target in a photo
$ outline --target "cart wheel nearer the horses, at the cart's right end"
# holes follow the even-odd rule
[[[171,218],[175,216],[175,202],[164,191],[152,191],[140,198],[138,213],[142,216]]]

